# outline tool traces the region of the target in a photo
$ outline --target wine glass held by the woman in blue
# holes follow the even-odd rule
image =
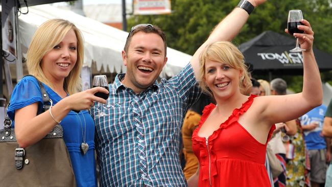
[[[103,87],[108,90],[108,82],[107,82],[106,75],[96,75],[93,77],[92,87],[97,87],[97,86]],[[98,92],[94,93],[94,96],[107,100],[109,97],[109,93],[104,93],[104,92],[98,91]],[[97,104],[96,109],[99,111],[99,113],[96,115],[96,117],[109,115],[104,112],[103,105],[104,104],[102,104],[102,103]]]

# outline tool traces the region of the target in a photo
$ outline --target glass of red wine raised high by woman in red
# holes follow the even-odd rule
[[[304,31],[299,30],[297,26],[302,25],[301,20],[303,19],[301,10],[290,10],[288,13],[287,30],[290,35],[294,36],[294,33],[303,33]],[[296,38],[296,46],[290,52],[302,52],[304,49],[300,48],[299,39]]]

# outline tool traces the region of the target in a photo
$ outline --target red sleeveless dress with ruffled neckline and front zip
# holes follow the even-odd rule
[[[234,109],[207,139],[198,136],[198,131],[216,105],[204,108],[199,127],[192,137],[193,151],[200,165],[198,186],[271,186],[264,165],[267,143],[256,141],[238,123],[239,116],[248,110],[254,97],[251,95],[241,108]],[[274,129],[273,125],[268,140]]]

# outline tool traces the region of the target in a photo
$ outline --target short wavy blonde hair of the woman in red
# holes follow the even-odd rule
[[[226,63],[232,68],[238,69],[242,71],[242,76],[240,78],[240,91],[245,94],[248,90],[251,89],[252,84],[249,78],[248,67],[244,63],[244,57],[242,53],[228,41],[218,41],[215,43],[211,43],[206,46],[206,48],[202,51],[199,61],[200,61],[200,73],[201,73],[201,81],[200,86],[205,93],[211,95],[211,91],[209,91],[206,83],[205,83],[205,62],[206,60],[213,60],[217,62]]]

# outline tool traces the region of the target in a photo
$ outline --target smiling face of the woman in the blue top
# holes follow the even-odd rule
[[[63,40],[46,53],[40,63],[42,72],[51,82],[62,81],[72,71],[77,61],[77,38],[73,29]]]

